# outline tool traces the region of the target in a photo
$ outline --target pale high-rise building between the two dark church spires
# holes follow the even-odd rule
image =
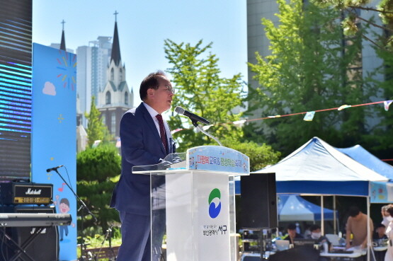
[[[89,45],[80,46],[76,49],[78,69],[76,81],[78,83],[77,98],[79,100],[76,112],[85,128],[87,127],[85,113],[90,112],[91,96],[96,97],[98,104],[98,92],[106,85],[106,70],[110,62],[112,50],[112,37],[99,36],[97,40],[89,42]]]

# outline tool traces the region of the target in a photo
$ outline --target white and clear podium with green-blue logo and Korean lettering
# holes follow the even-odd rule
[[[132,173],[150,175],[152,261],[237,260],[234,177],[249,175],[248,156],[198,146]]]

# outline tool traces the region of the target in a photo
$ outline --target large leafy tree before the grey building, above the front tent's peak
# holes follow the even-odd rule
[[[249,89],[249,110],[262,109],[263,115],[287,115],[337,105],[365,103],[372,86],[358,69],[360,37],[345,39],[334,18],[338,12],[302,5],[300,0],[278,0],[280,24],[263,19],[270,40],[271,55],[256,54],[249,64],[260,87]],[[365,110],[319,112],[312,122],[304,115],[278,117],[246,127],[247,137],[263,137],[284,155],[314,136],[338,145],[353,145],[365,134]]]

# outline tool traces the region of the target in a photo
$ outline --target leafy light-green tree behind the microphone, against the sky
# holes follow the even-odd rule
[[[243,104],[241,74],[236,74],[230,79],[220,77],[218,58],[215,54],[206,54],[212,43],[203,46],[203,41],[200,40],[192,46],[189,43],[176,44],[171,40],[165,40],[164,45],[166,58],[171,64],[167,71],[173,77],[171,81],[176,87],[173,105],[193,111],[210,120],[212,124],[240,119],[241,113],[234,112],[234,108]],[[169,120],[169,125],[176,129],[184,125],[185,121],[184,117],[175,115]],[[214,133],[218,139],[239,138],[242,135],[239,128],[233,124],[217,124],[210,127],[209,132]],[[190,147],[211,142],[205,134],[195,132],[193,127],[177,132],[174,137],[180,144],[178,151],[186,151]]]

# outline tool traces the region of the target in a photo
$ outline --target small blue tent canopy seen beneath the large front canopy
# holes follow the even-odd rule
[[[321,207],[298,195],[278,195],[279,221],[321,221]],[[333,220],[334,211],[324,208],[324,219]]]

